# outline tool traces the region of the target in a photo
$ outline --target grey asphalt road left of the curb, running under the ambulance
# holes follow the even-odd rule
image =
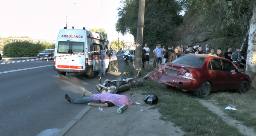
[[[118,58],[122,71],[122,54]],[[102,81],[116,79],[119,74],[112,70]],[[64,95],[79,98],[84,88],[96,94],[98,82],[99,76],[59,77],[53,71],[53,60],[0,65],[0,136],[35,136],[63,128],[86,106],[69,104]]]

